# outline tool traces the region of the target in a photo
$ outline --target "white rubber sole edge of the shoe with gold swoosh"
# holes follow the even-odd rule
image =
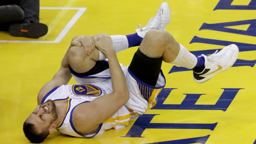
[[[197,80],[194,77],[193,77],[193,79],[197,83],[204,83],[204,82],[210,80],[215,74],[217,74],[219,72],[223,72],[223,71],[227,70],[228,68],[230,68],[232,65],[234,65],[234,63],[236,62],[236,59],[238,57],[238,54],[239,54],[239,48],[236,46],[236,44],[230,44],[229,46],[226,46],[225,48],[229,48],[229,47],[232,48],[233,50],[235,50],[232,59],[228,62],[228,63],[230,63],[230,65],[226,65],[224,68],[221,68],[221,70],[218,70],[217,72],[212,73],[211,75],[209,75],[208,77],[205,77],[204,79]],[[202,77],[204,77],[204,76],[202,76]]]

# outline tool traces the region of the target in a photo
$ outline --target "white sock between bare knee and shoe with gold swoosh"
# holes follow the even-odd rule
[[[180,52],[176,59],[171,63],[192,69],[197,65],[197,57],[180,44]]]

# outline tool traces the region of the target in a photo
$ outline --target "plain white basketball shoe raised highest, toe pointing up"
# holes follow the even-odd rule
[[[156,13],[156,16],[154,18],[150,18],[147,26],[142,28],[141,25],[139,24],[139,28],[136,29],[135,31],[137,32],[139,37],[144,38],[146,33],[149,30],[159,29],[159,30],[165,31],[167,24],[170,23],[170,20],[171,20],[170,8],[167,2],[164,2],[159,7],[158,12]]]

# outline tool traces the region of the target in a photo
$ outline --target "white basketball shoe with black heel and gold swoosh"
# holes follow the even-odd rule
[[[193,71],[193,78],[197,83],[208,81],[215,74],[230,68],[235,63],[239,54],[239,49],[235,44],[226,46],[218,53],[217,51],[210,56],[204,54],[200,56],[205,59],[205,68],[200,73]]]

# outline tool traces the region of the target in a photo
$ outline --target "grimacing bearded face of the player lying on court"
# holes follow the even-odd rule
[[[34,124],[35,130],[41,133],[58,118],[56,105],[52,100],[47,100],[45,103],[38,105],[35,110],[28,116],[26,122]]]

